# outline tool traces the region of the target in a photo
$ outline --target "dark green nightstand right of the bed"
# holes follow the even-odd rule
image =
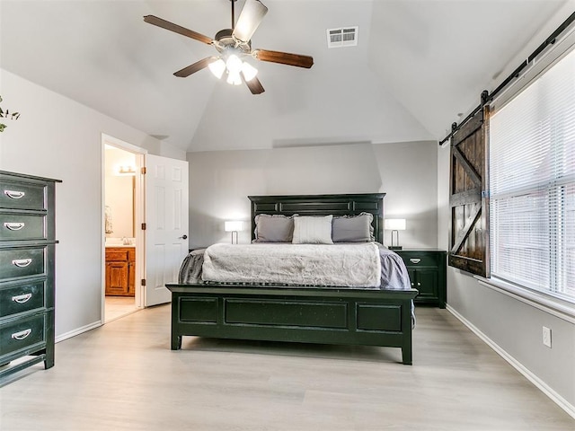
[[[414,302],[446,308],[447,251],[438,249],[395,250],[410,274],[411,287],[420,291]]]

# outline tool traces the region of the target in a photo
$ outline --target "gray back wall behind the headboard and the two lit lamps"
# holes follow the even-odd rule
[[[404,247],[437,247],[437,143],[321,145],[188,154],[190,247],[229,242],[225,220],[249,226],[249,195],[385,192],[407,220]],[[250,242],[247,230],[240,242]],[[385,233],[385,244],[389,244]]]

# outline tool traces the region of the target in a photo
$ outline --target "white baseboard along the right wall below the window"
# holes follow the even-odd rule
[[[495,350],[495,352],[499,356],[505,359],[509,363],[509,365],[513,366],[513,368],[515,368],[519,373],[523,374],[529,382],[535,384],[535,386],[539,388],[539,390],[543,391],[544,394],[547,395],[551,400],[553,400],[555,404],[557,404],[559,407],[565,410],[567,414],[571,416],[571,418],[575,418],[575,406],[573,406],[570,402],[565,400],[556,391],[553,391],[553,389],[550,388],[549,385],[547,385],[547,383],[544,383],[543,380],[541,380],[535,374],[531,373],[525,366],[523,366],[519,361],[517,361],[515,357],[510,356],[509,353],[507,353],[497,343],[495,343],[492,339],[487,337],[481,330],[479,330],[476,326],[474,326],[471,321],[468,321],[467,319],[464,318],[464,316],[459,314],[459,312],[456,312],[456,310],[453,307],[450,307],[449,304],[447,304],[446,308],[448,312],[451,312],[454,316],[456,316],[456,318],[459,321],[461,321],[467,328],[472,330],[477,337],[482,339],[482,341],[484,341],[489,347]]]

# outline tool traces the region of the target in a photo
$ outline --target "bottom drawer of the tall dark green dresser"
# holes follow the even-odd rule
[[[10,321],[0,327],[0,356],[46,341],[46,313]]]

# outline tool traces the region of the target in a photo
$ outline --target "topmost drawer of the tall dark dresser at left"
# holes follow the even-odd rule
[[[46,209],[46,186],[25,181],[0,179],[0,207]]]

